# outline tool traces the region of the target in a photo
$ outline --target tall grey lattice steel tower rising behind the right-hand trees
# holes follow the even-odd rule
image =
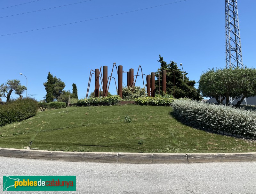
[[[226,1],[226,68],[243,68],[237,0]]]

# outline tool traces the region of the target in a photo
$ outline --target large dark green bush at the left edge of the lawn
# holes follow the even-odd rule
[[[0,106],[0,127],[35,116],[37,108],[37,101],[29,97]]]

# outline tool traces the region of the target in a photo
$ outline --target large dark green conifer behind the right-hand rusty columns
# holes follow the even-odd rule
[[[156,92],[159,91],[159,81],[160,81],[160,93],[162,92],[162,70],[166,70],[166,93],[172,94],[175,98],[190,98],[194,100],[201,100],[202,96],[195,88],[196,81],[189,80],[186,71],[184,71],[184,81],[183,72],[178,68],[177,63],[171,61],[171,63],[166,63],[164,58],[159,55],[160,68],[156,72]],[[160,72],[160,78],[159,78]],[[173,79],[174,78],[174,79]],[[175,95],[174,95],[175,92]]]

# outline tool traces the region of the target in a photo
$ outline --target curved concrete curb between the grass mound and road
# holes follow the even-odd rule
[[[41,160],[108,163],[199,163],[256,161],[252,153],[112,153],[112,152],[60,152],[0,148],[0,156]]]

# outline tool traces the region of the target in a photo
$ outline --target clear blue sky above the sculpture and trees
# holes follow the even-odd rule
[[[81,99],[86,95],[90,70],[107,65],[110,74],[114,62],[135,73],[141,65],[143,73],[150,74],[160,67],[161,54],[166,62],[182,63],[189,79],[196,82],[203,71],[226,65],[225,0],[32,1],[0,1],[0,84],[19,79],[26,86],[22,73],[28,78],[28,94],[37,100],[46,94],[43,83],[49,71],[65,82],[65,90],[72,92],[76,83]],[[254,3],[238,0],[243,62],[255,68]],[[13,6],[17,4],[22,5]],[[67,4],[73,5],[37,11]],[[168,5],[158,6],[163,4]],[[9,6],[13,7],[6,8]],[[144,9],[154,6],[158,7]],[[135,11],[140,9],[144,10]],[[5,17],[30,11],[36,12]],[[124,12],[129,13],[115,15]],[[105,17],[109,15],[115,16]],[[89,21],[12,34],[82,20]],[[126,74],[123,82],[126,84]],[[136,85],[142,86],[141,78]],[[93,87],[92,81],[90,92]],[[115,94],[115,88],[111,81],[110,93]],[[12,97],[17,97],[14,92]]]

